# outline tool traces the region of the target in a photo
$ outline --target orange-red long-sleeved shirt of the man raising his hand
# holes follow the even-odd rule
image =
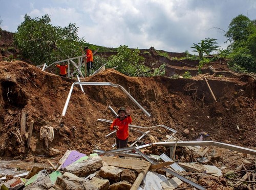
[[[119,126],[119,129],[116,131],[116,137],[121,140],[126,140],[129,137],[128,127],[132,121],[131,116],[125,116],[123,120],[120,120],[120,117],[118,117],[113,121],[110,129],[114,130],[114,126]]]

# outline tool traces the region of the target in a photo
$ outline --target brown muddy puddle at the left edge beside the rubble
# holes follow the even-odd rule
[[[0,175],[22,174],[28,172],[33,166],[48,168],[50,165],[22,160],[0,160]]]

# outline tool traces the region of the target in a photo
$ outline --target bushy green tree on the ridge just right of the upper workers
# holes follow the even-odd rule
[[[144,58],[139,55],[140,50],[130,49],[127,45],[117,48],[117,55],[111,56],[107,63],[107,68],[114,68],[128,76],[144,76],[143,72],[150,70],[144,64]]]

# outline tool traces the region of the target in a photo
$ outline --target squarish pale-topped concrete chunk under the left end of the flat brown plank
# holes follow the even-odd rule
[[[99,171],[99,176],[105,179],[109,179],[111,182],[120,181],[120,175],[122,169],[119,169],[115,166],[103,166]]]

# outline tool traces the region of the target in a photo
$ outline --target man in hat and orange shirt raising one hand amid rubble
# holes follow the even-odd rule
[[[116,145],[117,148],[127,147],[129,131],[129,124],[132,123],[131,109],[121,107],[118,110],[118,117],[110,126],[111,130],[116,130]]]

